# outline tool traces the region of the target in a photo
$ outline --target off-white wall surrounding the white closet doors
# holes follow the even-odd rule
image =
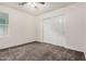
[[[84,3],[75,3],[60,10],[56,10],[37,18],[37,40],[42,41],[42,20],[57,15],[64,15],[64,29],[66,46],[65,48],[84,51],[84,22],[83,22]],[[40,27],[39,27],[40,26]]]

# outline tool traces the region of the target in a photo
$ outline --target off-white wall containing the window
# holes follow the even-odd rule
[[[35,41],[35,16],[5,5],[0,12],[9,13],[9,34],[0,36],[0,49]]]

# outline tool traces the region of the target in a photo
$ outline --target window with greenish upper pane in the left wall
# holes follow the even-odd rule
[[[0,12],[0,36],[8,34],[9,14]]]

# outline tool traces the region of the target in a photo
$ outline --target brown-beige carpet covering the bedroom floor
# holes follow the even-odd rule
[[[0,50],[0,61],[84,61],[83,52],[49,43],[32,42]]]

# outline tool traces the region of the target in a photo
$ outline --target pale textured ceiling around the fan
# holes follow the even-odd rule
[[[44,5],[37,4],[37,9],[34,9],[28,4],[20,7],[19,2],[1,2],[0,4],[4,4],[7,7],[17,9],[33,15],[40,15],[42,13],[51,12],[53,10],[58,10],[73,3],[74,2],[46,2],[46,4]]]

